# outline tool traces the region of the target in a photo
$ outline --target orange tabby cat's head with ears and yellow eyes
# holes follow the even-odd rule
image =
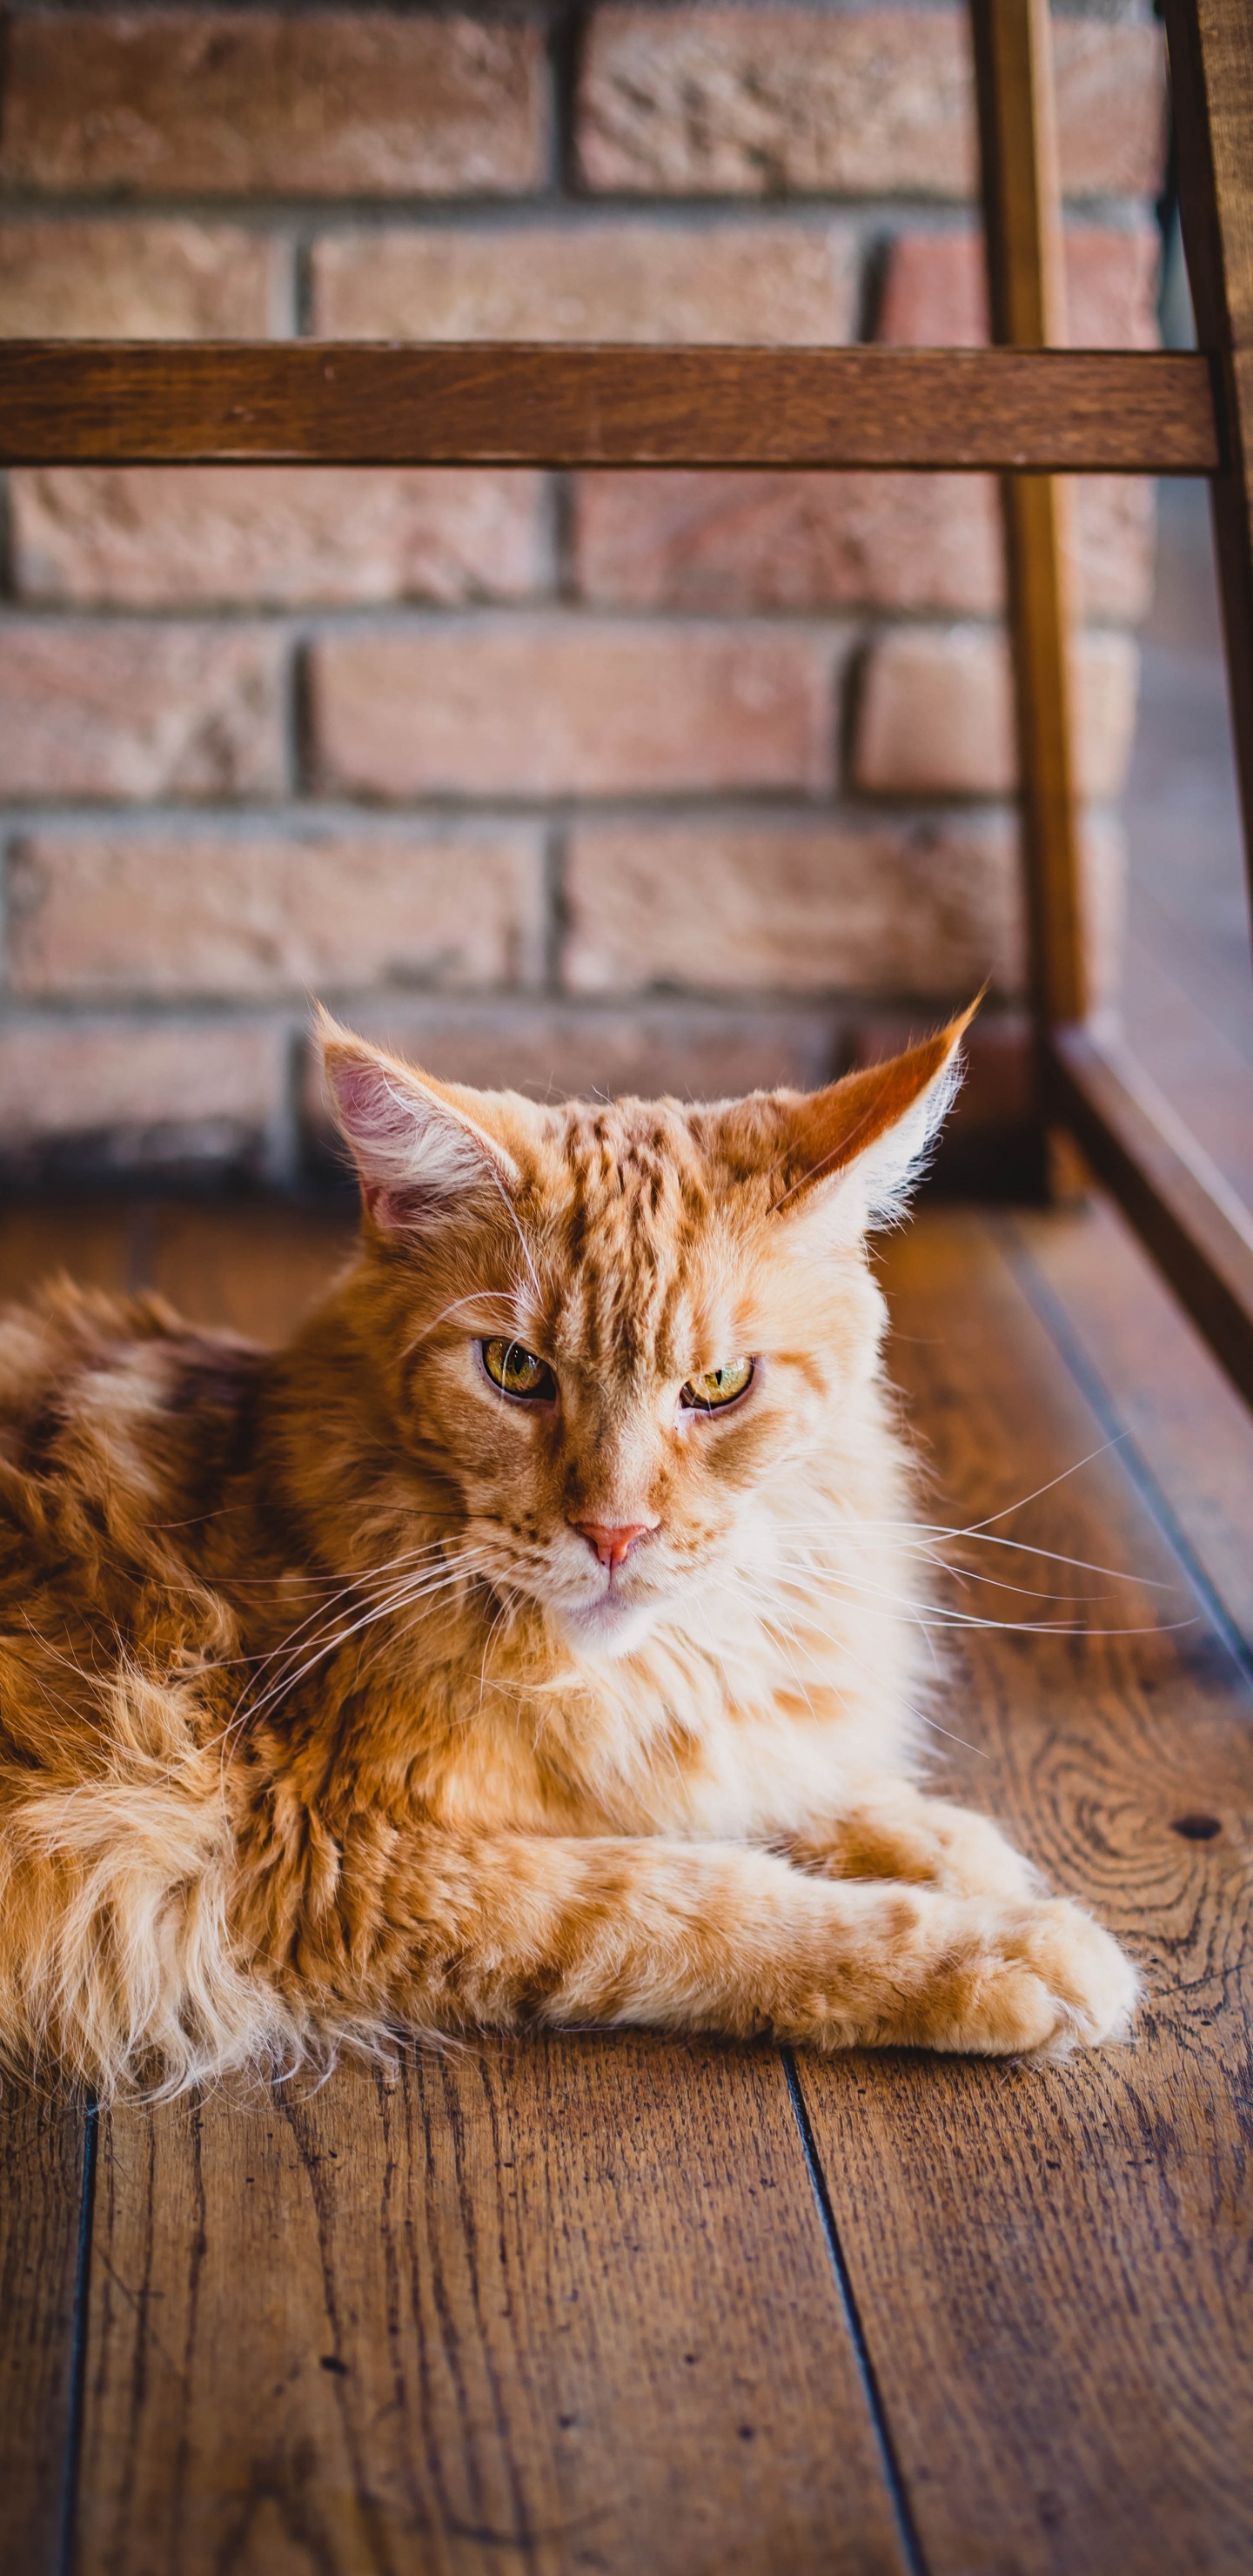
[[[389,1435],[469,1561],[624,1654],[709,1595],[874,1376],[864,1262],[957,1079],[964,1012],[820,1092],[539,1108],[322,1023],[364,1200]]]

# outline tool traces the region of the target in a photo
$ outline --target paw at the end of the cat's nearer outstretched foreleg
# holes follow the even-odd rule
[[[1080,1906],[1005,1906],[982,1914],[977,1937],[936,1978],[923,2045],[1060,2058],[1127,2038],[1137,1996],[1132,1960]]]

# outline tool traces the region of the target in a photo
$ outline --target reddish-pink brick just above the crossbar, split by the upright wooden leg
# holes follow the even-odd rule
[[[1158,234],[1075,224],[1065,237],[1073,348],[1158,348]],[[987,273],[977,232],[900,232],[887,255],[879,340],[980,348]]]

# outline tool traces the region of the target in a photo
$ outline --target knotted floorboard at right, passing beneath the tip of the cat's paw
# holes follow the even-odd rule
[[[975,1749],[946,1744],[941,1775],[1127,1940],[1147,2007],[1132,2048],[1054,2071],[802,2061],[853,2298],[933,2576],[1235,2576],[1253,1708],[995,1226],[931,1216],[887,1267],[946,1515],[1062,1479],[995,1530],[1122,1569],[987,1551],[1054,1600],[972,1587],[982,1615],[1083,1636],[954,1641],[941,1716]]]

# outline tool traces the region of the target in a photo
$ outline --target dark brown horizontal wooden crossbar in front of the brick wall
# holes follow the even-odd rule
[[[1214,474],[1209,366],[1142,350],[0,345],[3,464]]]

